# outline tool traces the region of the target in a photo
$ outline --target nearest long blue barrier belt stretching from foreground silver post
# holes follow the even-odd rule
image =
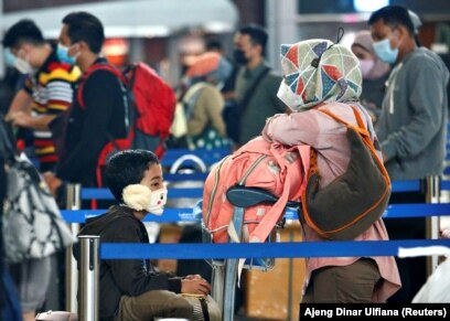
[[[442,239],[330,240],[282,243],[221,243],[221,244],[141,244],[104,243],[101,259],[218,259],[218,258],[302,258],[397,256],[400,248],[444,246]],[[219,254],[219,255],[217,255]]]

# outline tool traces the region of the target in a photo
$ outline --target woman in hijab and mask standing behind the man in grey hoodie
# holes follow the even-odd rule
[[[352,44],[352,52],[360,60],[363,75],[361,104],[367,108],[373,121],[376,122],[381,113],[385,83],[389,76],[390,66],[376,56],[368,30],[356,33]]]

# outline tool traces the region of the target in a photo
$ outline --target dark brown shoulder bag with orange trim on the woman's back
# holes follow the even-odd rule
[[[311,149],[311,164],[306,192],[301,196],[300,220],[329,239],[353,239],[382,217],[390,197],[389,175],[376,154],[368,131],[353,107],[357,127],[325,109],[347,127],[351,159],[345,173],[323,189]]]

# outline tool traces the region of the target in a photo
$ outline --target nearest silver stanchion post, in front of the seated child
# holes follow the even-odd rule
[[[79,307],[78,319],[98,321],[98,276],[99,244],[98,235],[78,236],[79,242]]]

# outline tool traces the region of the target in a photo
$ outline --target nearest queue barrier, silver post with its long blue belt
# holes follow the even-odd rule
[[[93,237],[98,240],[98,236]],[[396,240],[333,240],[333,242],[301,242],[301,243],[226,243],[226,244],[124,244],[104,243],[97,248],[82,246],[81,267],[89,278],[81,279],[81,297],[92,298],[97,303],[99,293],[99,260],[100,259],[215,259],[225,261],[238,258],[300,258],[300,257],[352,257],[352,256],[398,256],[401,249],[417,247],[450,248],[450,239],[396,239]],[[99,254],[98,254],[99,253]],[[219,255],[217,255],[219,254]],[[218,257],[219,256],[219,257]],[[225,276],[225,280],[226,280]],[[213,286],[214,287],[214,286]],[[234,320],[234,308],[231,293],[223,293],[223,321]],[[86,307],[85,304],[83,307]],[[83,308],[82,307],[82,308]],[[96,321],[97,306],[88,306],[89,310],[82,310],[85,321]]]

